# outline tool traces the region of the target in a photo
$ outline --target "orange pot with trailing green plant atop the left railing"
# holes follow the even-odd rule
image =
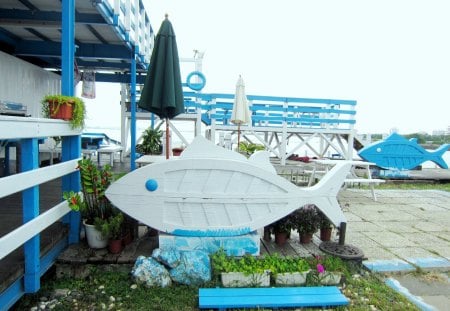
[[[72,129],[84,128],[86,107],[81,98],[65,95],[47,95],[42,99],[41,103],[44,117],[68,120]]]

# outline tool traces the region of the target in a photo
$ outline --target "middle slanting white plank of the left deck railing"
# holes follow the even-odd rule
[[[0,178],[0,198],[73,173],[77,170],[78,160],[70,160]]]

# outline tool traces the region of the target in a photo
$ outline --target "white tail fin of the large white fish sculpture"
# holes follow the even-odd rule
[[[342,188],[351,167],[352,164],[346,161],[336,164],[320,180],[320,182],[313,187],[315,193],[312,203],[315,204],[336,227],[339,227],[341,222],[347,221],[337,201],[337,195]]]

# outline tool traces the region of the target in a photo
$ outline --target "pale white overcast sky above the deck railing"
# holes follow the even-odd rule
[[[155,33],[169,14],[180,57],[204,52],[205,93],[242,75],[247,94],[356,100],[358,133],[450,126],[448,0],[143,3]]]

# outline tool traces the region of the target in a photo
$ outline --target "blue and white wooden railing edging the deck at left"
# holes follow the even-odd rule
[[[25,293],[40,288],[40,277],[51,267],[67,244],[79,241],[79,213],[72,213],[62,199],[63,190],[80,190],[77,161],[81,154],[80,132],[72,130],[66,121],[0,116],[0,141],[20,144],[20,172],[0,178],[0,198],[22,193],[23,225],[0,238],[0,260],[15,249],[24,247],[22,277],[0,293],[1,308],[8,309]],[[62,162],[39,168],[38,140],[62,137]],[[5,151],[8,152],[8,151]],[[8,163],[7,163],[8,165]],[[62,177],[61,203],[40,214],[39,185]],[[69,223],[69,237],[57,243],[41,257],[40,233],[63,218]]]

